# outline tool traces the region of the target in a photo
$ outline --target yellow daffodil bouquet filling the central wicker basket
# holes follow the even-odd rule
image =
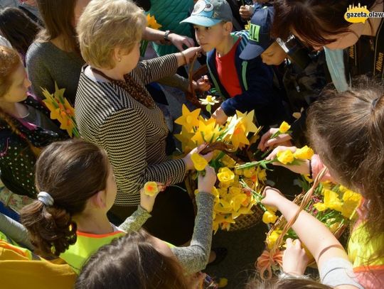
[[[214,152],[210,165],[215,168],[218,182],[213,189],[213,230],[230,230],[241,217],[255,214],[255,204],[263,207],[260,204],[260,192],[267,180],[265,168],[237,168],[239,162],[244,163],[239,155],[247,156],[247,160],[253,156],[252,153],[247,154],[247,151],[257,140],[260,128],[253,122],[254,111],[237,111],[223,126],[216,124],[213,118],[203,118],[200,113],[201,109],[189,111],[183,105],[182,116],[175,121],[182,127],[176,138],[181,141],[183,153],[188,153],[202,143],[208,143],[206,149]],[[193,154],[192,161],[196,169],[196,173],[191,175],[194,182],[197,174],[203,173],[208,163],[197,153]]]

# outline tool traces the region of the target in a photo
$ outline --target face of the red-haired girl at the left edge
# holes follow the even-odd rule
[[[6,94],[0,98],[2,102],[22,102],[27,97],[31,81],[28,80],[26,69],[20,63],[17,70],[11,75],[11,87]]]

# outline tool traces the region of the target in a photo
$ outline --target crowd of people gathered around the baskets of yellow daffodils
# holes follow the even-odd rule
[[[227,251],[211,248],[217,172],[198,175],[197,212],[183,189],[192,156],[213,153],[203,144],[171,158],[163,85],[214,92],[219,126],[255,111],[267,160],[309,145],[311,160],[283,166],[312,178],[328,168],[324,180],[363,198],[344,249],[265,187],[262,205],[297,217],[299,239],[287,239],[279,276],[243,288],[384,288],[383,18],[348,22],[358,4],[384,11],[380,0],[0,0],[4,288],[217,288],[201,273]],[[190,85],[196,57],[207,74]],[[56,87],[80,138],[50,117],[43,89]],[[289,133],[277,133],[282,121]],[[145,193],[150,181],[159,192]],[[302,244],[319,280],[304,275]]]

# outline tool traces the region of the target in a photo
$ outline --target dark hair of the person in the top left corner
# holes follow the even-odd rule
[[[0,31],[18,53],[26,55],[40,27],[20,9],[8,7],[0,10]]]

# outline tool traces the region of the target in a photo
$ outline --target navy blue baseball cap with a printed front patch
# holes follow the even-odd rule
[[[274,8],[272,6],[260,7],[255,11],[250,21],[248,44],[240,54],[241,59],[251,60],[257,58],[270,47],[274,41],[270,37],[273,17]]]

